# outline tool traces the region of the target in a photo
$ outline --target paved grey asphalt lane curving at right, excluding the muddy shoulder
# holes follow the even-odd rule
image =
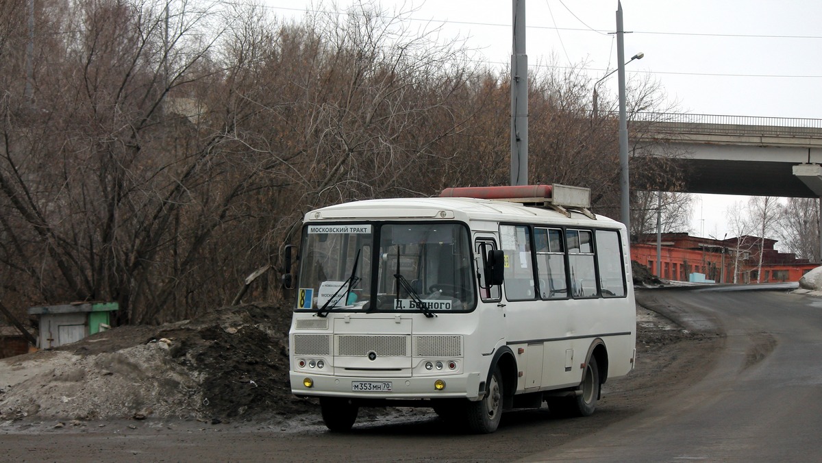
[[[524,461],[822,461],[822,299],[727,289],[656,298],[726,335],[704,379]]]

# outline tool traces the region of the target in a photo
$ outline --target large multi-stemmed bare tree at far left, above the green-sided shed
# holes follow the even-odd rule
[[[35,301],[114,300],[123,321],[152,320],[227,207],[199,195],[219,177],[219,133],[196,137],[160,111],[212,72],[198,30],[211,13],[178,4],[166,35],[165,7],[72,3],[40,46],[51,64],[35,74],[35,112],[18,95],[2,107],[0,225],[15,244],[0,261],[30,280]],[[187,205],[200,207],[183,215]],[[184,220],[196,226],[175,248]],[[178,266],[162,265],[173,252]]]

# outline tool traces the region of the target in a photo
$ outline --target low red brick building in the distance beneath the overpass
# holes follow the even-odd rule
[[[648,266],[665,280],[756,283],[760,253],[763,283],[799,281],[819,263],[797,259],[774,249],[775,239],[755,236],[713,239],[684,233],[662,234],[660,268],[657,269],[657,235],[647,234],[631,245],[631,260]],[[736,276],[736,278],[735,278]]]

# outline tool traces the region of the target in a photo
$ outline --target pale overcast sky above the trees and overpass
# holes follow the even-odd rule
[[[340,7],[351,0],[339,0]],[[780,118],[822,117],[822,2],[818,0],[623,0],[625,56],[643,52],[626,75],[650,73],[681,112]],[[331,3],[265,0],[278,16]],[[510,63],[510,0],[383,0],[388,10],[418,11],[413,26],[442,25],[444,37],[469,37],[478,59]],[[592,78],[617,66],[616,0],[529,0],[527,53],[532,65],[584,65]],[[599,87],[617,93],[614,74]],[[747,197],[700,195],[695,234],[727,233],[727,207]]]

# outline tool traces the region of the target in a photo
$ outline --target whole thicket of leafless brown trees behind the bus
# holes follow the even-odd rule
[[[279,23],[247,4],[45,0],[38,30],[53,33],[38,37],[29,101],[23,1],[0,7],[7,304],[192,317],[232,301],[250,271],[282,271],[312,208],[507,183],[506,72],[410,30],[413,10]],[[531,85],[531,178],[588,186],[615,215],[616,118],[590,117],[579,70]],[[653,107],[644,90],[635,100]],[[637,178],[670,174],[635,164]],[[247,297],[279,297],[271,274]]]

